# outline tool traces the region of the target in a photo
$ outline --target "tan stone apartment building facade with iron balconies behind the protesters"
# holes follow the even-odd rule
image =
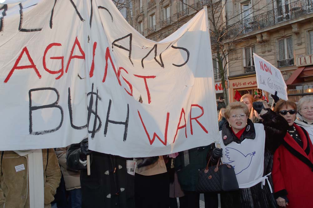
[[[290,99],[297,101],[313,94],[313,0],[218,2],[225,30],[221,41],[231,51],[226,72],[230,102],[237,90],[240,94],[249,92],[255,99],[262,97],[252,53],[281,70]],[[210,6],[210,0],[132,0],[132,5],[135,29],[148,39],[160,41],[203,6]],[[218,98],[223,94],[216,61],[213,67]]]

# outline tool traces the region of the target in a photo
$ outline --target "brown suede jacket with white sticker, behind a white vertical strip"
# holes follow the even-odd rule
[[[0,152],[2,153],[2,152]],[[47,165],[47,149],[42,150],[44,167],[44,207],[51,207],[54,195],[59,187],[61,171],[54,149],[49,149]],[[16,172],[15,166],[24,164],[25,170]],[[13,151],[4,151],[0,164],[0,207],[30,208],[28,195],[28,163]]]

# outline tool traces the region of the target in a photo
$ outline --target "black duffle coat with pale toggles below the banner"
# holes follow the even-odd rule
[[[135,176],[127,173],[126,158],[92,152],[90,176],[80,160],[80,144],[72,144],[67,153],[67,165],[82,170],[80,184],[83,208],[134,208]]]

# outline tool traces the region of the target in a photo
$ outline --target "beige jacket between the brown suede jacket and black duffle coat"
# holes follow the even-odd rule
[[[67,148],[68,147],[56,148],[55,154],[59,160],[59,165],[65,181],[66,191],[70,191],[75,188],[80,188],[80,171],[68,169],[66,165]]]

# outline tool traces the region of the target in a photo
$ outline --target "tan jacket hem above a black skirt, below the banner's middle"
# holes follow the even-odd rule
[[[139,164],[141,161],[141,159],[138,159],[137,164]],[[167,170],[162,156],[159,156],[159,159],[151,165],[136,168],[136,173],[144,176],[153,176],[165,172],[167,172]]]

